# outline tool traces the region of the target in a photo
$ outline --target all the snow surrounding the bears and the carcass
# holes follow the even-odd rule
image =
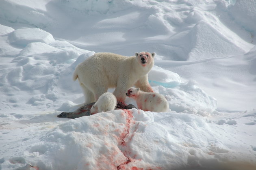
[[[254,0],[2,0],[0,169],[255,169],[255,22]],[[57,118],[76,65],[141,51],[169,112]]]

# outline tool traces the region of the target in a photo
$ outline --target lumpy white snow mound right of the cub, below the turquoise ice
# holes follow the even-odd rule
[[[169,108],[176,112],[208,116],[217,109],[217,100],[208,96],[194,81],[181,83],[175,88],[156,86],[153,89],[163,94]]]

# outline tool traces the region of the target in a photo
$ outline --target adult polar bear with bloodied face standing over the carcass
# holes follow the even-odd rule
[[[124,102],[126,90],[132,86],[153,92],[148,83],[148,72],[154,65],[155,53],[140,52],[127,57],[113,53],[95,53],[75,69],[73,80],[80,82],[85,103],[92,103],[108,88],[115,88],[113,95]]]

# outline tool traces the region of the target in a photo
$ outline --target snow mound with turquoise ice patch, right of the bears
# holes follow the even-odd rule
[[[217,100],[207,95],[193,80],[182,82],[177,73],[157,66],[152,68],[148,78],[153,89],[165,95],[173,111],[206,116],[217,109]]]

